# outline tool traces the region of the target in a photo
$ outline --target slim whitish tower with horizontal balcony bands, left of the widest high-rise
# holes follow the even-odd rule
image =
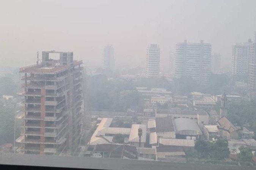
[[[157,44],[150,44],[147,48],[146,77],[158,77],[160,67],[160,49]]]

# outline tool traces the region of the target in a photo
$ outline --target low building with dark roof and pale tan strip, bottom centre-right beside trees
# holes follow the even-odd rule
[[[186,162],[185,152],[179,146],[159,146],[156,147],[157,161]]]

